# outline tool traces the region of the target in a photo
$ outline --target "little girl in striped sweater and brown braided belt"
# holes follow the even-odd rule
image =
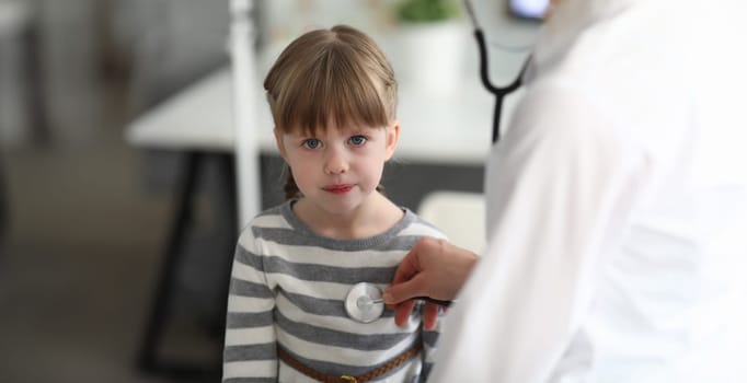
[[[288,165],[287,201],[239,239],[223,382],[416,382],[438,333],[394,313],[361,323],[345,298],[383,288],[422,236],[444,235],[381,193],[397,148],[397,82],[371,38],[349,26],[292,42],[264,88]]]

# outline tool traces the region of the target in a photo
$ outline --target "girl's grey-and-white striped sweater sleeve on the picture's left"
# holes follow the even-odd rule
[[[235,248],[223,350],[223,383],[277,381],[273,322],[275,298],[264,274],[264,255],[249,227]]]

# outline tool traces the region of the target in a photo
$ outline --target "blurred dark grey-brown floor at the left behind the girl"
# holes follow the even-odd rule
[[[111,111],[110,111],[111,112]],[[106,115],[91,142],[0,151],[10,228],[0,248],[0,382],[209,382],[136,368],[172,208],[143,187],[146,163]],[[177,311],[161,350],[186,361],[219,347]]]

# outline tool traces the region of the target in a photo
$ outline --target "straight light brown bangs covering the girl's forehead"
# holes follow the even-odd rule
[[[359,51],[332,44],[313,56],[295,63],[295,73],[285,79],[287,83],[275,88],[283,89],[281,93],[267,94],[280,131],[313,135],[329,126],[384,127],[390,123],[395,85],[375,81],[379,73],[359,59]]]

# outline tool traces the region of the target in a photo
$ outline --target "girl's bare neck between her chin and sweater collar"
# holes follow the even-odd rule
[[[345,213],[332,213],[301,198],[292,207],[298,219],[313,232],[337,240],[371,237],[391,229],[404,212],[389,198],[373,193],[366,204]]]

